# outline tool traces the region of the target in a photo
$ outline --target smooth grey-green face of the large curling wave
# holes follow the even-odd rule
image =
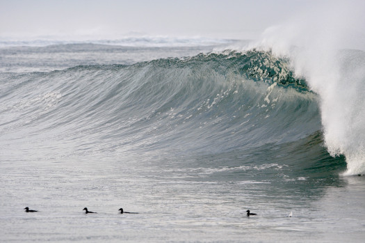
[[[175,157],[196,168],[276,164],[268,168],[318,176],[346,167],[323,146],[318,95],[270,52],[2,72],[0,82],[10,161]]]

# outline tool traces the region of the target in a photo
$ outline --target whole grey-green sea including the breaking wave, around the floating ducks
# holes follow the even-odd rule
[[[0,49],[2,242],[364,242],[364,52],[46,44]]]

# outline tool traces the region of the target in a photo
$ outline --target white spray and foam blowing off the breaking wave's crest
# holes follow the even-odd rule
[[[346,6],[319,6],[315,14],[267,29],[249,48],[290,58],[295,75],[320,96],[327,150],[345,155],[344,175],[354,175],[365,172],[365,34],[358,21],[365,5]]]

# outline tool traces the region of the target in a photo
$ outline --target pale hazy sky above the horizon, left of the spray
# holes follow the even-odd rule
[[[0,0],[0,37],[206,36],[252,38],[314,11],[321,0]]]

